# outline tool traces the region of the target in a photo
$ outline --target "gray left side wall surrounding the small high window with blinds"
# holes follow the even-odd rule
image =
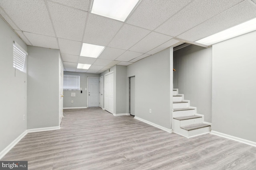
[[[13,41],[26,44],[0,17],[0,152],[27,129],[27,74],[14,76]],[[25,120],[23,120],[25,115]]]

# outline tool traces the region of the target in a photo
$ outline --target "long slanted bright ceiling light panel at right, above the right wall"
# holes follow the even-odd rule
[[[256,30],[256,18],[216,33],[214,35],[210,35],[209,37],[200,39],[196,41],[196,43],[212,45],[220,41],[224,41],[226,39],[230,39],[254,30]]]

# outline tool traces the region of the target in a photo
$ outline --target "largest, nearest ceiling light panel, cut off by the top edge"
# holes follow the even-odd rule
[[[92,13],[125,21],[139,0],[94,0]]]

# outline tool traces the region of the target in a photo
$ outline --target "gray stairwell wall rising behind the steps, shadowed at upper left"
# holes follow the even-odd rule
[[[212,122],[212,47],[189,45],[174,51],[174,88],[197,107],[204,121]]]

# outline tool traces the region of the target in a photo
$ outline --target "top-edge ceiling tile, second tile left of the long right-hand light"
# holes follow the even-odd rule
[[[155,31],[177,36],[243,0],[194,0]]]

